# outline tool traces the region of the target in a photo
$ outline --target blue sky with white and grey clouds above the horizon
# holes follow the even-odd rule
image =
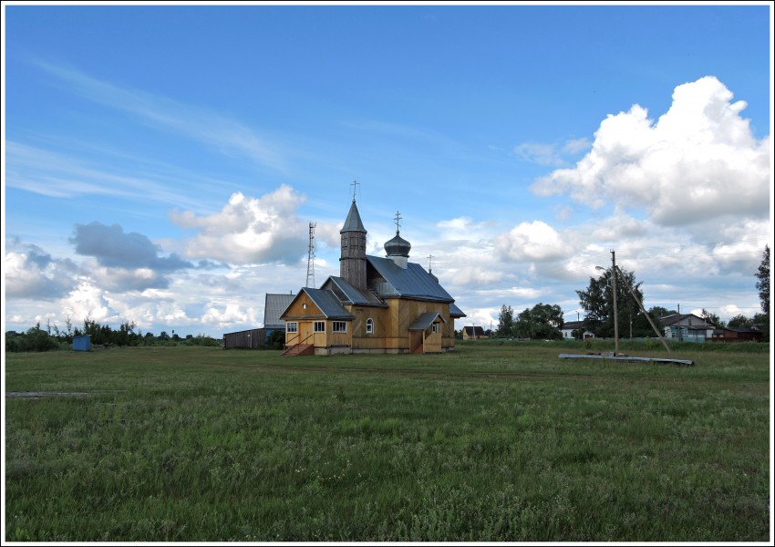
[[[584,319],[612,251],[646,308],[760,311],[770,3],[3,12],[4,332],[260,327],[339,274],[354,195],[457,329]]]

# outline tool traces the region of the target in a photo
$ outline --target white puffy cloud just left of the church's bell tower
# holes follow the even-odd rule
[[[308,225],[296,211],[305,197],[290,186],[261,198],[235,192],[221,212],[198,216],[172,212],[181,228],[199,232],[185,243],[189,258],[211,258],[223,263],[296,263],[309,243]]]

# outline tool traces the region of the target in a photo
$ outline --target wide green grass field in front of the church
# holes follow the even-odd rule
[[[768,542],[769,349],[694,348],[7,354],[5,541]]]

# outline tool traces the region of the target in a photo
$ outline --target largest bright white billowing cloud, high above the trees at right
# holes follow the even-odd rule
[[[678,86],[656,123],[646,108],[609,115],[573,169],[554,170],[532,191],[567,193],[599,208],[644,207],[660,225],[769,214],[771,138],[753,137],[744,101],[716,77]]]

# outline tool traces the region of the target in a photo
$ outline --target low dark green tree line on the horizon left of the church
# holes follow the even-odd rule
[[[100,325],[97,321],[87,317],[82,327],[73,327],[70,318],[67,317],[65,328],[60,329],[50,322],[46,327],[40,323],[27,329],[25,332],[7,331],[5,333],[5,351],[49,351],[54,349],[69,349],[73,338],[82,335],[90,335],[92,346],[123,347],[123,346],[221,346],[221,340],[208,335],[186,335],[181,337],[173,330],[171,335],[161,331],[159,335],[153,333],[142,334],[134,322],[124,321],[118,329],[110,325]]]

